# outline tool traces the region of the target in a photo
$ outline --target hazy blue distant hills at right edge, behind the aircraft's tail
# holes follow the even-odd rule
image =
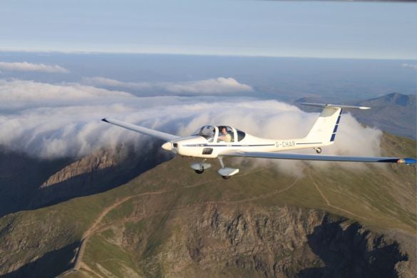
[[[327,103],[324,98],[300,98],[295,104],[303,110],[312,111],[314,108],[306,108],[299,105],[302,102]],[[370,110],[349,110],[361,123],[374,126],[387,133],[417,138],[417,100],[416,95],[403,95],[390,93],[379,98],[371,98],[365,101],[351,101],[351,105],[369,106]]]

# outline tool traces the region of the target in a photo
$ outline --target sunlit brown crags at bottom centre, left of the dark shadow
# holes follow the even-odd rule
[[[302,269],[300,254],[313,257],[306,245],[307,235],[322,217],[321,212],[304,214],[288,207],[235,211],[213,207],[205,212],[202,221],[191,225],[191,235],[204,236],[188,250],[200,255],[193,260],[203,269],[215,268],[220,263],[225,268],[276,277],[288,272],[289,267]]]

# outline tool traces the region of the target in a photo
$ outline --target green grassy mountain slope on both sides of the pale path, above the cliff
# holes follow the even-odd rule
[[[414,140],[385,135],[382,144],[384,155],[416,154]],[[415,166],[361,165],[360,170],[358,167],[341,168],[334,163],[326,168],[306,165],[304,175],[297,178],[277,173],[274,167],[242,167],[230,160],[227,164],[240,168],[241,173],[230,180],[222,180],[212,169],[195,175],[188,167],[190,161],[175,158],[108,192],[3,217],[0,220],[2,242],[26,237],[35,244],[36,237],[46,236],[37,248],[0,256],[7,256],[11,263],[22,257],[29,262],[36,255],[78,242],[105,207],[123,197],[129,199],[110,210],[88,240],[83,255],[87,268],[81,267],[81,272],[72,275],[94,276],[94,272],[106,271],[118,276],[162,274],[164,267],[147,259],[172,244],[168,239],[180,236],[178,219],[213,203],[242,206],[250,202],[261,207],[314,208],[348,217],[373,230],[396,229],[416,236]],[[217,161],[212,164],[216,169]],[[14,227],[13,232],[10,226]],[[135,248],[123,249],[121,242],[117,242],[120,237],[116,235],[120,233],[126,238],[129,233],[141,234],[146,244],[132,242]],[[138,254],[138,249],[143,252]],[[149,269],[150,266],[153,268]]]

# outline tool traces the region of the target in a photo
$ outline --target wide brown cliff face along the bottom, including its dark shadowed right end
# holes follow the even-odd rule
[[[123,234],[123,248],[139,254],[137,264],[147,275],[413,277],[416,274],[397,242],[319,210],[212,205],[185,215],[175,217],[163,227],[165,232],[177,232],[168,232],[170,235],[158,239],[151,227],[144,233]],[[155,248],[154,242],[159,247]]]

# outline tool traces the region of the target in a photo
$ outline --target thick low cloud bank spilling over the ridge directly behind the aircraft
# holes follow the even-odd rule
[[[0,98],[0,145],[41,158],[80,157],[120,143],[132,143],[140,150],[153,140],[103,123],[101,118],[105,117],[182,136],[201,125],[227,124],[265,138],[298,138],[307,135],[318,116],[294,105],[255,98],[142,98],[79,84],[19,80],[0,81]],[[324,148],[324,153],[380,155],[380,136],[380,130],[364,128],[350,114],[344,114],[336,143]],[[292,171],[297,165],[277,163]]]

